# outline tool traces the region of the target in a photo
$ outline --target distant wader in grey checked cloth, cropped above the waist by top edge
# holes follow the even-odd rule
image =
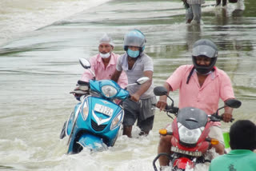
[[[182,0],[186,8],[186,23],[200,24],[201,21],[201,5],[205,0]]]

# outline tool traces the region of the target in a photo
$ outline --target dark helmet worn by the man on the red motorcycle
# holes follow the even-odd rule
[[[211,58],[210,66],[199,66],[196,62],[196,57],[204,56]],[[208,39],[200,39],[194,43],[192,50],[192,59],[194,68],[199,74],[207,74],[213,70],[218,58],[218,47]]]

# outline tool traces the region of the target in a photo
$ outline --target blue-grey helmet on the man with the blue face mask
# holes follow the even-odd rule
[[[145,49],[146,38],[140,30],[131,30],[124,37],[124,50],[128,50],[128,46],[139,47],[140,54]]]

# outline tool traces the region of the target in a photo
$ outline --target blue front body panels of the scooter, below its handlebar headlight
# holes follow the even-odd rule
[[[79,105],[82,105],[81,108]],[[80,111],[78,111],[80,109]],[[87,111],[87,115],[85,114]],[[82,103],[74,107],[74,113],[78,112],[78,118],[74,125],[74,133],[70,137],[67,153],[76,153],[76,143],[90,149],[102,149],[105,146],[113,146],[122,124],[123,109],[112,101],[101,97],[88,96]],[[67,122],[66,133],[70,136],[74,124],[74,113],[71,113]],[[118,124],[111,128],[115,117],[119,117]],[[93,141],[95,140],[95,145]],[[98,145],[96,145],[98,144]],[[100,145],[102,144],[102,145]],[[85,145],[85,146],[84,146]]]

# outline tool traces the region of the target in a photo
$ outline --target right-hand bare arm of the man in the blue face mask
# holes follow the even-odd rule
[[[133,101],[138,101],[139,97],[146,92],[147,89],[150,88],[150,85],[152,84],[152,78],[153,78],[153,71],[151,70],[146,70],[143,72],[144,77],[150,78],[150,80],[148,80],[147,82],[145,82],[144,84],[142,84],[140,86],[140,88],[138,89],[137,92],[135,92],[134,94],[132,94],[130,96],[130,99]]]

